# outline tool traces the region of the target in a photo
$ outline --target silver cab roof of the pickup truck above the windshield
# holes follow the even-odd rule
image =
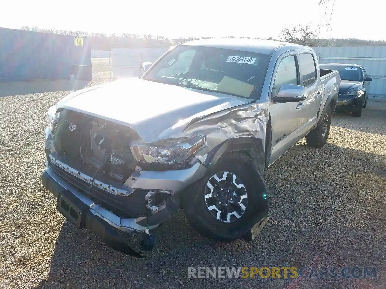
[[[231,50],[241,50],[247,52],[256,52],[261,54],[272,54],[274,50],[283,47],[283,50],[312,50],[312,48],[293,44],[289,42],[280,42],[274,40],[260,40],[248,38],[210,38],[198,39],[184,42],[181,45],[213,47]],[[287,49],[285,49],[285,48]],[[283,51],[283,52],[285,52]]]

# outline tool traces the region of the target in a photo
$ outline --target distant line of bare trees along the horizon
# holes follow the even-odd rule
[[[21,30],[55,33],[72,35],[79,37],[90,37],[91,38],[91,49],[93,50],[110,50],[112,48],[157,48],[157,47],[169,47],[171,45],[178,44],[193,39],[208,39],[214,37],[188,37],[179,39],[168,39],[162,35],[150,35],[150,34],[133,34],[133,33],[122,33],[122,34],[104,34],[98,32],[85,32],[85,31],[73,31],[73,30],[58,30],[58,29],[40,29],[38,27],[23,26]],[[283,30],[282,30],[283,31]],[[249,38],[249,37],[234,37],[226,36],[222,38]],[[265,38],[254,38],[254,39],[265,39]],[[269,39],[272,39],[271,37]],[[272,40],[286,40],[288,39],[272,39]],[[312,39],[315,40],[315,39]],[[297,42],[297,41],[290,41]],[[386,46],[384,40],[361,40],[356,38],[330,38],[318,39],[317,42],[311,41],[310,44],[317,44],[317,46]],[[313,46],[313,45],[312,45]]]

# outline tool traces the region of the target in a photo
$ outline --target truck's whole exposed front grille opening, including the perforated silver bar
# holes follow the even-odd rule
[[[124,185],[135,170],[129,147],[139,138],[134,130],[66,109],[52,136],[47,159],[58,175],[122,218],[149,214],[145,199],[148,191],[133,192]]]

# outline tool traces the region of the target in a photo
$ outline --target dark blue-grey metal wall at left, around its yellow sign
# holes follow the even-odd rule
[[[0,82],[68,79],[74,65],[91,67],[90,39],[78,38],[0,28]]]

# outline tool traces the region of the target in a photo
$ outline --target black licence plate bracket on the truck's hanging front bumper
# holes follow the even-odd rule
[[[70,195],[67,191],[60,192],[58,194],[58,202],[56,203],[56,209],[61,212],[61,214],[67,218],[71,223],[73,223],[76,228],[84,228],[84,215],[85,211],[78,207],[76,204],[76,197]]]

